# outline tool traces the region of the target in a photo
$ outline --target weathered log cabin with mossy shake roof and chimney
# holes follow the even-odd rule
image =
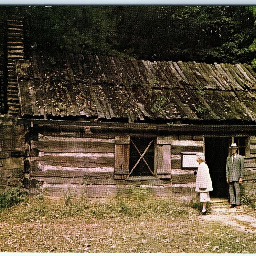
[[[7,47],[23,40],[15,33]],[[41,186],[104,197],[132,185],[191,194],[195,154],[204,152],[210,196],[227,198],[231,143],[245,158],[244,183],[256,189],[256,73],[248,64],[15,49],[8,48],[6,109],[24,132],[29,193]]]

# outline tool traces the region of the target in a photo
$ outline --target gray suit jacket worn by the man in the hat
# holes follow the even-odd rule
[[[238,181],[244,178],[244,157],[236,155],[235,162],[232,164],[232,155],[227,157],[226,178],[229,182]]]

